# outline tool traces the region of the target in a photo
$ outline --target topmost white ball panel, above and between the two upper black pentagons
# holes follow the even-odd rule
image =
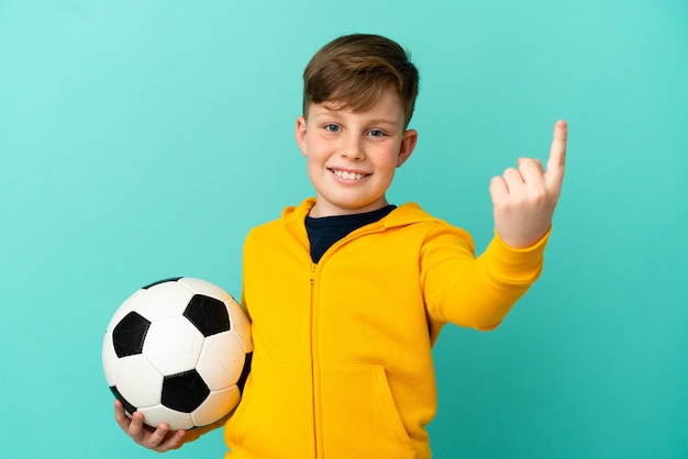
[[[179,282],[163,282],[144,290],[137,311],[151,322],[184,314],[193,292]]]

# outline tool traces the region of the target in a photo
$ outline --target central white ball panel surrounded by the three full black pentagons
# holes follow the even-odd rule
[[[196,367],[203,335],[182,315],[154,322],[143,344],[143,355],[163,376]]]

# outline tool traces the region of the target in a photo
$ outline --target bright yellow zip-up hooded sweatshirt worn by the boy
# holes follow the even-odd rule
[[[497,327],[540,275],[547,237],[528,249],[496,237],[476,259],[468,233],[409,203],[315,265],[304,226],[313,204],[246,238],[254,356],[226,458],[428,459],[440,329]]]

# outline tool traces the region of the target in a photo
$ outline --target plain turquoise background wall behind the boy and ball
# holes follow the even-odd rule
[[[302,68],[352,32],[421,70],[390,201],[479,251],[489,179],[569,123],[541,281],[496,332],[440,337],[435,457],[688,457],[681,0],[0,1],[0,457],[153,457],[112,421],[104,327],[169,276],[240,294],[246,232],[313,193]]]

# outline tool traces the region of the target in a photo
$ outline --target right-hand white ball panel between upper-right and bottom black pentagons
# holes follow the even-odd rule
[[[225,389],[242,374],[246,355],[236,335],[223,332],[206,338],[196,370],[211,391]]]

